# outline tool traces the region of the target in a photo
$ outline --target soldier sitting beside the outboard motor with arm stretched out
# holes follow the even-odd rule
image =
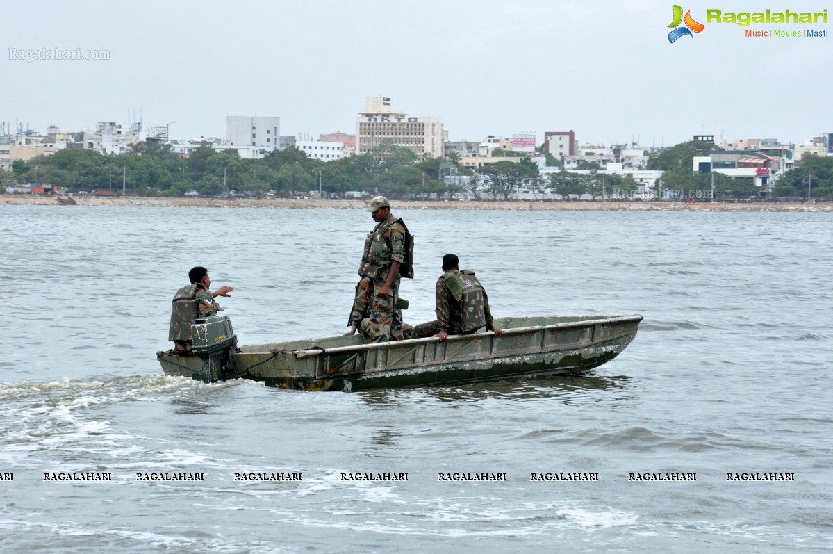
[[[191,354],[191,322],[198,317],[216,316],[217,312],[222,312],[222,307],[214,298],[230,297],[229,292],[234,291],[232,287],[221,287],[211,292],[208,270],[202,266],[192,267],[188,279],[191,284],[182,287],[173,296],[171,327],[167,334],[167,340],[173,341],[173,352],[182,356]]]

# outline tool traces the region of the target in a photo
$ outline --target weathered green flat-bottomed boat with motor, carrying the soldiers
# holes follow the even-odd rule
[[[503,333],[366,343],[359,335],[237,347],[227,317],[192,325],[193,353],[157,352],[167,375],[247,378],[302,391],[451,385],[588,372],[636,337],[641,315],[501,317]]]

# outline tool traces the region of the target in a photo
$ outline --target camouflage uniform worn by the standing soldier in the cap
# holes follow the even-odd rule
[[[387,297],[377,291],[387,279],[392,262],[405,262],[405,229],[399,219],[390,217],[378,223],[365,239],[359,275],[372,281],[373,294],[368,317],[362,320],[362,334],[372,342],[387,342],[402,337],[402,317],[397,313],[399,273],[394,277]]]

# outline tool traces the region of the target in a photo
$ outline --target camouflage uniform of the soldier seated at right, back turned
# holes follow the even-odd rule
[[[489,297],[474,272],[451,269],[436,280],[436,320],[414,327],[411,338],[433,337],[438,332],[468,335],[481,327],[494,329]]]

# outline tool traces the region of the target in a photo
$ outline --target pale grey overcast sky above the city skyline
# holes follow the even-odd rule
[[[833,132],[833,4],[681,3],[706,28],[670,43],[655,0],[4,2],[0,121],[45,132],[172,123],[225,137],[227,115],[284,135],[356,132],[367,96],[441,117],[451,140],[574,130],[581,143],[716,138],[804,142]],[[828,23],[706,23],[706,8],[821,12]],[[827,31],[751,38],[753,30]],[[8,59],[107,50],[108,61]]]

